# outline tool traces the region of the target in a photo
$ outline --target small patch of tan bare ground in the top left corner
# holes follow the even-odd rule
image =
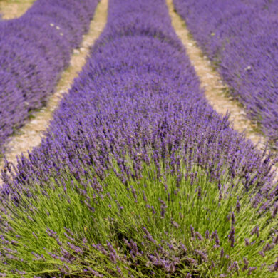
[[[0,14],[2,19],[14,19],[22,16],[35,0],[0,0]]]

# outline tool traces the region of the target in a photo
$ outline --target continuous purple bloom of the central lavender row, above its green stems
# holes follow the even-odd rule
[[[45,182],[65,170],[81,177],[91,165],[102,175],[112,167],[111,155],[140,163],[150,160],[149,150],[159,160],[179,149],[189,169],[201,165],[217,179],[225,165],[246,188],[271,186],[269,159],[207,104],[164,1],[113,0],[105,31],[48,135],[18,160],[14,179],[3,173],[4,188]]]

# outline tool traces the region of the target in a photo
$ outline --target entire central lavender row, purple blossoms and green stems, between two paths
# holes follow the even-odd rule
[[[205,101],[165,1],[110,0],[41,146],[2,172],[1,275],[277,277],[271,166]]]

